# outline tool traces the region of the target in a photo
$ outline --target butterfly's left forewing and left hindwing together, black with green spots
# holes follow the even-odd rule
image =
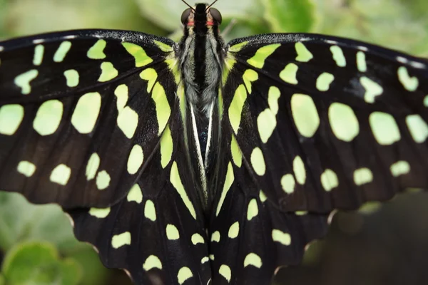
[[[0,48],[0,189],[56,202],[136,284],[208,283],[173,42],[68,31]]]

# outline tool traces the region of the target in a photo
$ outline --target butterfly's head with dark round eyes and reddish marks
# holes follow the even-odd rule
[[[216,1],[214,1],[213,4],[215,2]],[[189,8],[185,9],[183,14],[181,14],[181,23],[189,28],[198,26],[220,26],[222,17],[220,11],[211,7],[213,4],[196,4],[194,7],[187,4]]]

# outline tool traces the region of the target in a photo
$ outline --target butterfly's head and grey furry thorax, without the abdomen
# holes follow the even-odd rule
[[[184,36],[180,41],[180,71],[186,100],[198,115],[208,118],[220,86],[223,39],[208,4],[197,4],[183,16],[187,18],[183,19]]]

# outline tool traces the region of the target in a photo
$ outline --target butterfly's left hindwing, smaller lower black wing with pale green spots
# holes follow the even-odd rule
[[[211,275],[203,213],[180,155],[183,127],[179,114],[172,117],[126,197],[106,209],[69,211],[76,237],[136,284],[208,284]]]

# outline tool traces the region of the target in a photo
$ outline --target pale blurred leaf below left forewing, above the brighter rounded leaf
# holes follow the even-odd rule
[[[20,194],[0,192],[0,249],[28,240],[49,241],[63,253],[87,246],[74,238],[70,221],[58,205],[34,205]]]

